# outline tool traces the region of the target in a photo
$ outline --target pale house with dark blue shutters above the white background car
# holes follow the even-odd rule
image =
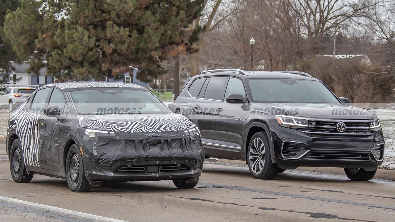
[[[43,85],[53,83],[54,77],[46,75],[47,69],[42,68],[38,73],[28,73],[30,65],[28,63],[16,64],[12,62],[14,70],[9,75],[10,82],[16,82],[17,85]]]

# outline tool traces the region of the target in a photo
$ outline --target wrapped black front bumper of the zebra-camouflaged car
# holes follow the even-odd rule
[[[115,133],[82,140],[85,175],[91,185],[105,181],[159,181],[199,177],[201,139],[184,132]]]

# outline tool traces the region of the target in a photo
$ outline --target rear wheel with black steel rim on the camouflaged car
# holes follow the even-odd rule
[[[19,139],[15,139],[9,151],[9,169],[11,177],[15,182],[30,182],[33,173],[27,173],[23,160],[22,144]]]

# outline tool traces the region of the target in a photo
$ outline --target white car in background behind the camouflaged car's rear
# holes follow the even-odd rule
[[[36,85],[13,85],[0,92],[0,108],[14,111],[34,92],[38,86]]]

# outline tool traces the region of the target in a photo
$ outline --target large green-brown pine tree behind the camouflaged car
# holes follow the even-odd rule
[[[46,66],[60,81],[103,80],[133,66],[147,79],[164,72],[162,60],[198,40],[188,25],[203,1],[22,0],[6,16],[4,32],[32,72]]]

